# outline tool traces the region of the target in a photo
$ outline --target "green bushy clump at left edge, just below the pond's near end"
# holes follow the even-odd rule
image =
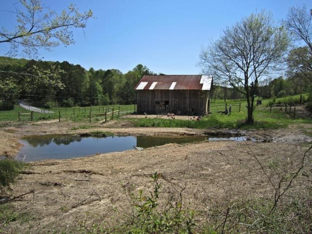
[[[11,159],[0,160],[0,188],[7,188],[14,183],[25,167],[25,163]]]

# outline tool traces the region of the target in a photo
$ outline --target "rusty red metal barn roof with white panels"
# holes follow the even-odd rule
[[[135,90],[210,90],[212,76],[162,75],[143,76]]]

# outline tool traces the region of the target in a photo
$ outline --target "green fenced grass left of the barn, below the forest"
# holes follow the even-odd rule
[[[54,113],[46,113],[41,114],[34,112],[34,121],[39,120],[50,120],[50,119],[58,119],[59,111],[61,114],[61,119],[72,120],[77,122],[86,122],[89,121],[89,113],[105,113],[106,107],[114,107],[115,110],[120,110],[120,116],[125,115],[127,112],[134,112],[134,105],[108,105],[108,106],[92,106],[92,107],[68,107],[68,108],[51,108],[50,110]],[[103,112],[104,111],[104,112]],[[112,109],[110,109],[112,111]],[[29,110],[25,110],[24,108],[16,105],[14,110],[0,111],[0,121],[17,121],[18,120],[18,112],[22,113],[30,113]],[[108,111],[107,111],[108,112]],[[114,119],[118,116],[118,113],[114,113]],[[112,115],[108,115],[108,120],[111,119]],[[30,121],[30,115],[21,115],[21,121]],[[91,116],[91,122],[97,122],[100,120],[104,120],[104,116]]]

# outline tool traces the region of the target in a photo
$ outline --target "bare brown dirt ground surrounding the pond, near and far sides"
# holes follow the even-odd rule
[[[96,124],[91,129],[79,129],[80,125],[71,122],[6,123],[0,128],[0,153],[16,154],[21,147],[18,139],[26,135],[80,134],[94,130],[118,135],[229,133],[226,130],[134,128],[126,121]],[[19,218],[1,228],[5,233],[58,233],[60,230],[75,230],[79,223],[105,222],[109,225],[120,222],[131,211],[125,190],[127,194],[137,193],[139,189],[148,193],[152,189],[149,175],[156,171],[162,173],[164,196],[184,188],[183,204],[202,214],[215,200],[266,196],[272,188],[260,165],[252,157],[253,153],[265,170],[269,171],[270,164],[274,162],[285,170],[294,171],[311,143],[311,133],[311,125],[249,130],[239,134],[258,141],[166,144],[142,151],[128,150],[85,158],[32,162],[31,168],[8,192],[12,196],[32,189],[35,192],[12,202],[20,214]],[[305,170],[311,165],[310,157]],[[305,178],[299,178],[294,188],[305,188],[306,183]],[[198,217],[200,219],[204,217]]]

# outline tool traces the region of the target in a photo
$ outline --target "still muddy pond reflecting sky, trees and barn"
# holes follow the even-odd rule
[[[19,140],[24,146],[17,153],[18,160],[36,161],[42,159],[79,158],[97,153],[109,153],[148,148],[168,143],[191,143],[207,140],[249,140],[246,137],[209,138],[208,136],[110,136],[80,137],[71,135],[29,136]],[[26,155],[26,156],[25,156]]]

